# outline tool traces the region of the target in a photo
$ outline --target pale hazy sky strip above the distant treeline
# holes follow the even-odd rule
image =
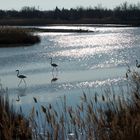
[[[99,4],[102,7],[114,8],[125,1],[133,4],[140,2],[140,0],[0,0],[0,9],[20,10],[23,6],[39,6],[41,10],[52,10],[56,6],[59,8],[76,8],[78,6],[94,7]]]

